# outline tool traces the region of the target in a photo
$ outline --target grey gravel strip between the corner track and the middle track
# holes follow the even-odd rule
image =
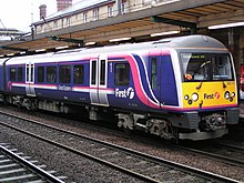
[[[3,131],[3,132],[2,132]],[[118,171],[1,126],[0,139],[68,176],[65,182],[140,182]]]

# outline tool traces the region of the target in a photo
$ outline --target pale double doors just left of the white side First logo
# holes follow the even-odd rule
[[[90,60],[90,99],[92,104],[109,105],[106,95],[108,58]]]

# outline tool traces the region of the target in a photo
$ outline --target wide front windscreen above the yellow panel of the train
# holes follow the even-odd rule
[[[181,53],[181,59],[185,82],[234,80],[228,54]]]

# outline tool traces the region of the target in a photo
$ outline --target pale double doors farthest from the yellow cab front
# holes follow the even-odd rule
[[[27,95],[35,96],[35,92],[34,92],[34,64],[31,62],[26,64],[26,92],[27,92]]]

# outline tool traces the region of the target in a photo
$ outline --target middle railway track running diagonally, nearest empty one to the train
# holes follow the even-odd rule
[[[1,114],[0,124],[145,182],[238,182],[29,119]]]

